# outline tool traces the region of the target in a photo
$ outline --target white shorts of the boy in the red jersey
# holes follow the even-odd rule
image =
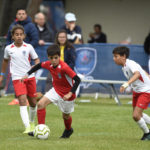
[[[63,113],[70,114],[70,113],[74,112],[74,100],[64,101],[56,93],[54,88],[51,88],[48,92],[46,92],[46,94],[44,96],[47,97],[52,103],[57,105]]]

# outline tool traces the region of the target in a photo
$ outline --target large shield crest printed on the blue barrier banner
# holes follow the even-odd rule
[[[97,63],[96,49],[90,47],[80,47],[76,49],[76,55],[76,72],[84,75],[91,74]]]

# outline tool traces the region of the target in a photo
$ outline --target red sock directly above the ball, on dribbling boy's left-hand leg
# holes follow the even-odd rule
[[[37,110],[38,124],[45,124],[46,108]]]

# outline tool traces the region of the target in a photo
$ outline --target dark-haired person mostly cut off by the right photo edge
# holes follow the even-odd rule
[[[145,41],[144,41],[144,50],[145,50],[145,53],[149,55],[148,70],[149,70],[149,73],[150,73],[150,33],[145,38]]]

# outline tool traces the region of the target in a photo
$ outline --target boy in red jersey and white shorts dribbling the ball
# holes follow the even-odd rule
[[[27,73],[28,76],[40,68],[45,68],[50,71],[53,78],[53,88],[38,102],[38,120],[45,118],[43,111],[48,104],[57,104],[62,112],[65,124],[65,130],[61,138],[69,138],[73,133],[70,113],[74,111],[75,91],[80,83],[80,78],[64,61],[60,60],[60,47],[58,45],[49,46],[47,54],[48,61],[35,65]],[[33,133],[31,132],[29,135],[33,135]]]

